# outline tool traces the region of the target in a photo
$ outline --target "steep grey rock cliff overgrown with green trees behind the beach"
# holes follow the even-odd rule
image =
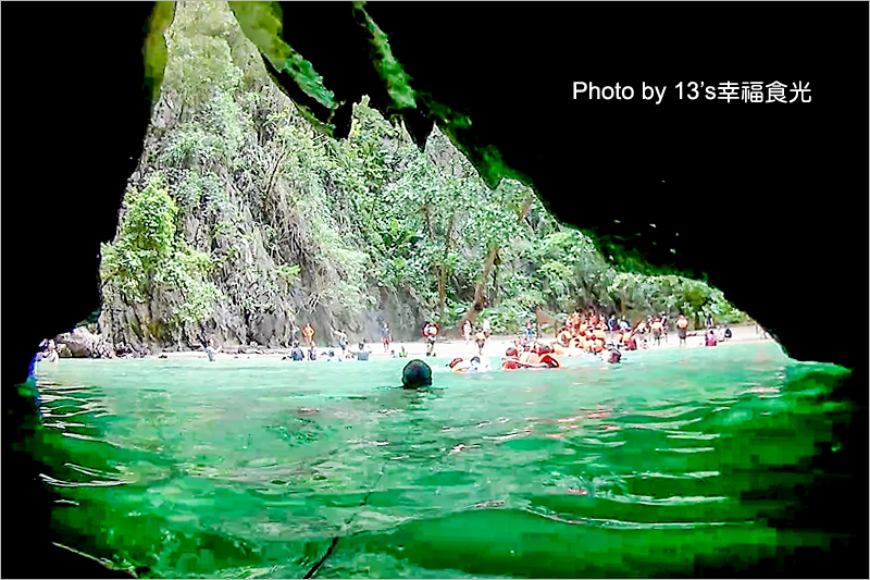
[[[620,272],[519,182],[488,187],[437,128],[421,151],[366,101],[347,139],[271,82],[233,12],[179,2],[145,150],[103,248],[115,342],[286,345],[308,321],[415,336],[432,313],[496,332],[536,308],[741,314],[701,282]]]

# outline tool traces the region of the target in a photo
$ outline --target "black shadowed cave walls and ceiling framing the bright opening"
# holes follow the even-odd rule
[[[369,95],[385,114],[397,112],[369,67],[370,39],[350,4],[282,4],[285,38],[337,102]],[[152,8],[3,8],[5,577],[123,576],[51,544],[63,543],[49,527],[52,498],[39,458],[21,445],[36,409],[15,385],[42,338],[99,308],[99,244],[114,236],[149,121],[142,39]],[[828,529],[837,521],[845,538],[830,551],[798,551],[753,570],[717,562],[696,573],[866,575],[868,359],[866,340],[850,335],[863,335],[854,329],[868,313],[868,5],[365,10],[412,79],[418,108],[402,114],[417,138],[444,121],[445,108],[468,115],[471,126],[446,132],[483,173],[499,170],[485,156],[497,150],[560,219],[614,256],[706,273],[792,357],[855,369],[837,387],[859,409],[835,425],[842,448],[820,451],[808,466],[854,477],[820,479],[784,522]],[[629,84],[635,97],[573,100],[575,81]],[[811,102],[680,100],[673,86],[681,81],[809,82]],[[641,99],[644,82],[669,86],[661,104]],[[333,123],[345,126],[348,112]],[[825,340],[808,338],[817,326]]]

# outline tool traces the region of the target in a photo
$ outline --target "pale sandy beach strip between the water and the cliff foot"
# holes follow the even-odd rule
[[[696,336],[689,336],[686,338],[686,347],[687,348],[697,348],[704,346],[704,331],[691,331],[697,332]],[[733,333],[732,338],[725,341],[724,343],[720,343],[719,346],[728,346],[729,344],[745,344],[747,342],[767,342],[771,341],[772,338],[762,338],[761,335],[756,332],[756,328],[754,324],[742,324],[738,326],[731,326],[731,332]],[[513,341],[519,335],[493,335],[486,342],[486,345],[483,349],[483,356],[489,358],[500,358],[505,355],[505,350],[508,346],[513,344]],[[552,335],[545,335],[544,337],[546,341],[552,341],[555,337]],[[652,343],[651,337],[648,338],[649,350],[658,350],[661,348],[679,348],[680,346],[680,338],[676,336],[676,331],[672,331],[668,334],[667,342],[664,338],[661,341],[660,346],[656,346]],[[373,343],[368,345],[371,350],[372,355],[371,358],[386,358],[389,357],[389,353],[384,353],[384,347],[381,343]],[[426,355],[426,343],[421,337],[418,341],[411,342],[399,342],[399,343],[391,343],[389,345],[390,350],[395,350],[397,354],[401,350],[401,347],[405,347],[405,350],[408,353],[408,358],[423,358],[425,359]],[[303,348],[304,349],[304,348]],[[318,346],[318,354],[319,356],[322,355],[324,350],[337,350],[340,351],[340,348],[333,347],[333,346]],[[356,350],[356,345],[352,345],[352,350]],[[281,359],[289,353],[286,348],[277,348],[277,349],[265,349],[265,348],[258,348],[262,354],[257,353],[247,353],[247,354],[236,354],[236,347],[229,347],[229,353],[217,353],[215,356],[219,360],[231,360],[231,359],[254,359],[254,358],[264,358],[264,359]],[[249,348],[249,350],[253,350],[253,347]],[[439,358],[455,358],[455,357],[472,357],[477,354],[477,345],[472,341],[469,344],[465,344],[465,341],[462,340],[439,340],[435,346],[435,356]],[[171,359],[191,359],[191,358],[203,358],[206,357],[206,351],[200,350],[189,350],[183,353],[163,353],[160,356],[165,356],[166,358]],[[146,357],[146,358],[156,358],[154,356]]]

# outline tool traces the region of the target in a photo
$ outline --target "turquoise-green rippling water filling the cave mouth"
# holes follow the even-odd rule
[[[693,576],[835,540],[788,522],[836,477],[812,462],[850,412],[837,367],[772,343],[438,359],[418,393],[406,362],[40,363],[54,529],[163,577],[300,578],[330,550],[318,578]]]

